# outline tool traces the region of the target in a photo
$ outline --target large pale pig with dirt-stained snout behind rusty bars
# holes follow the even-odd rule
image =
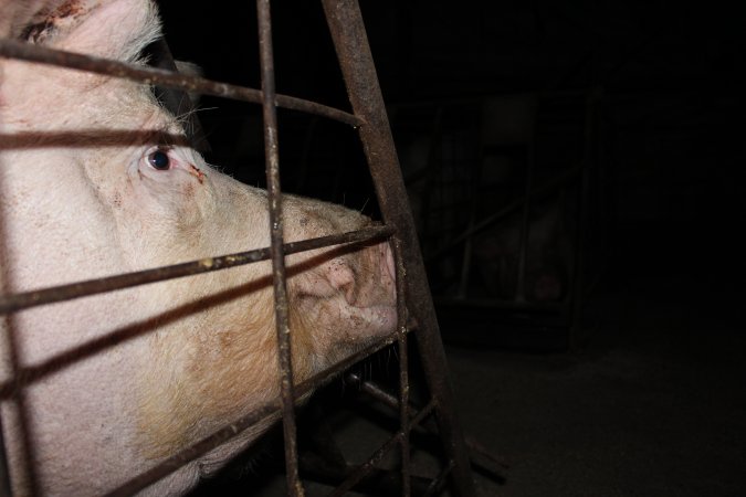
[[[0,35],[49,47],[144,64],[160,34],[150,0],[0,0]],[[190,148],[148,86],[0,59],[3,295],[267,246],[266,205]],[[286,242],[371,224],[292,195],[283,221]],[[295,382],[395,330],[388,243],[286,263]],[[265,262],[0,316],[14,495],[107,493],[275,399],[273,313]],[[143,494],[188,491],[267,424]]]

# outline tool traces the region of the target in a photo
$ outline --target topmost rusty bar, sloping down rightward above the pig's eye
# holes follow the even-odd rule
[[[262,103],[262,92],[259,89],[204,80],[187,74],[172,73],[155,67],[146,67],[119,61],[111,61],[108,59],[82,55],[80,53],[46,49],[15,40],[0,39],[0,56],[86,71],[90,73],[104,74],[106,76],[122,77],[149,85],[197,92],[202,95],[232,98],[235,101],[251,102],[253,104]],[[275,98],[279,107],[324,116],[350,126],[360,126],[361,124],[360,119],[349,113],[327,107],[315,102],[308,102],[287,95],[275,95]]]

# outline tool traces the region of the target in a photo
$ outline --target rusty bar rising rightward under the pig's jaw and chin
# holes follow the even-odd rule
[[[314,391],[318,387],[325,384],[326,382],[329,381],[336,374],[340,373],[345,369],[349,368],[354,363],[367,358],[368,356],[371,356],[381,349],[390,346],[395,341],[397,341],[398,335],[397,332],[393,332],[389,335],[388,337],[377,341],[376,343],[372,343],[365,349],[358,351],[357,353],[354,353],[353,356],[349,356],[348,358],[337,362],[336,364],[325,369],[324,371],[313,376],[308,380],[297,384],[295,387],[295,396],[296,399],[302,398],[303,395],[308,394],[309,392]],[[429,410],[428,410],[429,409]],[[428,410],[423,410],[424,415],[429,414],[430,411],[434,409],[434,405],[429,405],[425,408]],[[259,409],[253,410],[249,414],[246,414],[243,417],[240,417],[233,423],[230,423],[225,425],[224,427],[220,429],[219,431],[212,433],[211,435],[202,438],[201,441],[197,442],[196,444],[191,445],[190,447],[181,451],[179,454],[176,454],[168,459],[165,459],[160,462],[157,466],[148,469],[145,473],[141,473],[140,475],[137,475],[136,477],[132,478],[130,480],[126,482],[124,485],[122,485],[119,488],[116,488],[112,490],[111,493],[106,494],[106,497],[124,497],[124,496],[129,496],[133,495],[143,488],[154,484],[155,482],[159,480],[160,478],[164,478],[165,476],[174,473],[185,464],[189,463],[190,461],[193,461],[214,447],[228,442],[232,437],[237,436],[239,433],[242,431],[246,430],[250,426],[253,426],[254,424],[259,423],[262,420],[265,420],[267,417],[273,417],[273,419],[279,419],[282,412],[282,401],[280,396],[276,396],[273,401],[270,403],[260,406]],[[423,414],[421,413],[421,414]],[[424,416],[422,415],[422,417]],[[421,417],[420,417],[421,419]]]

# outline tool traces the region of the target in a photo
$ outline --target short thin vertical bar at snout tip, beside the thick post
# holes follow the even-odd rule
[[[407,268],[403,265],[401,241],[392,241],[397,267],[397,331],[399,347],[399,422],[401,423],[401,495],[411,494],[411,462],[410,462],[410,421],[409,421],[409,351],[407,347]]]

